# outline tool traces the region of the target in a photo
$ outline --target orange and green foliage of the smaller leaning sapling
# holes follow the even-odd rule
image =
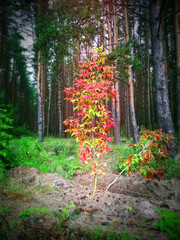
[[[140,170],[145,178],[161,179],[165,175],[163,165],[169,157],[173,136],[164,134],[162,129],[143,129],[140,134],[140,143],[129,145],[133,148],[133,153],[127,159],[122,159],[123,167],[126,167],[128,175]]]

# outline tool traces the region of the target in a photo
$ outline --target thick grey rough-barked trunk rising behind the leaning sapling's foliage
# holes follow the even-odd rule
[[[161,0],[150,0],[150,29],[153,50],[153,70],[156,87],[156,109],[158,127],[167,134],[174,135],[174,127],[169,105],[168,84],[165,68],[162,22],[159,18],[162,10]],[[176,154],[176,142],[171,146],[172,155]]]

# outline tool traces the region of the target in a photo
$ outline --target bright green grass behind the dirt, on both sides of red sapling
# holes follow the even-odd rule
[[[132,139],[123,138],[121,140],[121,145],[110,143],[109,147],[114,151],[108,153],[101,160],[102,164],[103,162],[107,163],[105,167],[107,171],[120,172],[124,168],[121,158],[127,158],[133,152],[133,148],[128,147],[132,143]],[[31,136],[13,139],[10,144],[12,147],[9,151],[11,159],[9,167],[19,165],[34,167],[42,172],[61,174],[68,179],[72,179],[78,169],[81,173],[90,171],[89,165],[79,161],[79,144],[73,138],[46,137],[43,143],[39,144],[37,137]],[[167,178],[175,177],[180,179],[179,162],[174,163],[172,160],[168,160],[164,167]],[[2,171],[0,171],[1,176],[4,175]]]

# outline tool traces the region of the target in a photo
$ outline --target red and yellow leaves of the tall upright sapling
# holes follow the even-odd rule
[[[80,161],[91,163],[94,177],[102,173],[103,167],[98,159],[107,152],[111,137],[108,136],[112,126],[115,126],[105,100],[115,97],[112,91],[113,67],[105,65],[106,58],[102,47],[94,51],[92,59],[81,63],[80,73],[73,87],[65,89],[67,97],[74,106],[76,117],[64,121],[68,125],[66,132],[80,142]]]

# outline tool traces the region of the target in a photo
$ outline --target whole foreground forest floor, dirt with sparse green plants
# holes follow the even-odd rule
[[[177,179],[149,181],[138,174],[121,176],[104,198],[107,186],[117,177],[117,174],[105,172],[98,178],[93,199],[91,173],[79,172],[70,181],[59,174],[19,166],[12,169],[10,175],[12,180],[8,186],[11,185],[11,189],[4,187],[0,196],[4,209],[10,206],[9,213],[4,214],[3,228],[0,227],[4,239],[163,240],[168,238],[156,227],[159,217],[156,209],[180,213],[180,181]],[[31,207],[46,207],[50,213],[19,217],[20,212]],[[100,238],[99,226],[105,232],[120,233],[126,229],[133,235]],[[96,236],[90,237],[95,228]]]

